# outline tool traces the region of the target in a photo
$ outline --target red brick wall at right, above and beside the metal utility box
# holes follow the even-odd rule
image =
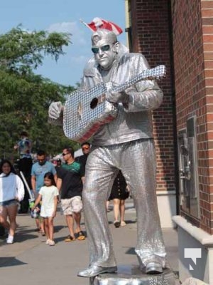
[[[171,3],[177,128],[197,116],[200,227],[213,234],[213,1]]]

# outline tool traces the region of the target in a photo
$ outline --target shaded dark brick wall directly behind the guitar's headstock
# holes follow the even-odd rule
[[[175,190],[173,95],[167,0],[131,0],[133,51],[143,53],[151,67],[165,64],[167,76],[159,82],[163,104],[153,112],[157,154],[157,190]]]

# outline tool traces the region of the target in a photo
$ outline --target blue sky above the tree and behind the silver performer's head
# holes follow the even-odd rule
[[[29,31],[58,31],[72,33],[72,44],[58,63],[45,58],[36,73],[50,80],[75,86],[80,82],[84,64],[92,56],[91,31],[80,23],[90,23],[94,17],[114,22],[125,29],[125,0],[7,0],[1,4],[0,33],[22,24]],[[125,31],[118,37],[126,43]]]

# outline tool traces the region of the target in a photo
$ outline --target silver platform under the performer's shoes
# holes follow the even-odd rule
[[[171,271],[164,269],[162,274],[143,274],[138,265],[121,265],[114,274],[99,274],[89,279],[89,285],[179,285]]]

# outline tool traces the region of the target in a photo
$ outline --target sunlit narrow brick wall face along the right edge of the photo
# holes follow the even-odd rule
[[[213,234],[213,1],[201,1],[201,14],[206,103],[204,137],[207,139],[202,142],[204,153],[200,149],[200,159],[204,157],[207,161],[203,167],[201,201],[204,229]]]

